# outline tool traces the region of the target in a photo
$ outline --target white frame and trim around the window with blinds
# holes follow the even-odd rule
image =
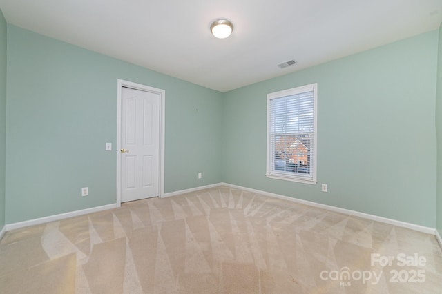
[[[272,167],[272,156],[273,158],[276,156],[275,153],[272,154],[271,150],[271,121],[270,121],[270,102],[273,99],[278,98],[284,98],[291,95],[297,95],[305,92],[311,92],[313,91],[313,146],[311,146],[310,154],[313,157],[313,162],[311,162],[311,170],[313,172],[306,177],[305,175],[302,175],[301,173],[293,173],[291,175],[290,173],[284,172],[284,171],[277,171],[274,170],[274,166]],[[317,183],[317,145],[318,145],[318,115],[317,115],[317,108],[318,108],[318,84],[309,84],[305,86],[298,86],[295,88],[290,88],[287,90],[282,90],[278,92],[272,92],[267,94],[267,155],[266,155],[266,177],[271,179],[281,179],[285,181],[291,181],[291,182],[300,182],[305,184],[316,184]],[[274,148],[273,148],[274,150]]]

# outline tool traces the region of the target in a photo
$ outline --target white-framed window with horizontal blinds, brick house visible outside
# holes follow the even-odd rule
[[[317,87],[267,95],[267,177],[316,184]]]

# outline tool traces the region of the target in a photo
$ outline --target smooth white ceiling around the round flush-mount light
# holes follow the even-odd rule
[[[439,28],[442,0],[0,0],[8,23],[226,92]],[[219,18],[235,26],[216,39]],[[280,69],[277,64],[298,64]]]

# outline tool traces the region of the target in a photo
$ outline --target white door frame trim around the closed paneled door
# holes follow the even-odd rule
[[[158,170],[158,188],[159,197],[164,197],[164,113],[166,91],[142,84],[136,84],[131,81],[117,79],[117,207],[122,204],[122,154],[119,152],[122,145],[122,87],[132,88],[145,92],[155,93],[160,96],[160,170]]]

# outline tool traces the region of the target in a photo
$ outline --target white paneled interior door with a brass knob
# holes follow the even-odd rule
[[[122,87],[122,202],[159,196],[160,94]]]

